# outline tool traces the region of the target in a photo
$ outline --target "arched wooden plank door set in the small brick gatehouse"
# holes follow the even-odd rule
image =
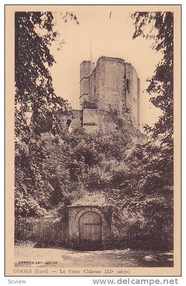
[[[101,216],[87,211],[79,218],[79,242],[84,249],[99,248],[101,242]]]

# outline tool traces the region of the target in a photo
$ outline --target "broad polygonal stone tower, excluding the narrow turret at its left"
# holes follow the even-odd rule
[[[90,74],[87,89],[86,100],[97,102],[99,110],[109,111],[110,105],[120,114],[129,113],[138,126],[139,79],[130,63],[121,58],[101,56]],[[86,92],[87,89],[84,88]]]

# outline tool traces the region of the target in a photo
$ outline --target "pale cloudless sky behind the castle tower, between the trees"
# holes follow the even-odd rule
[[[69,7],[68,11],[71,10]],[[65,11],[61,8],[61,12]],[[140,123],[155,123],[161,112],[149,103],[149,95],[143,90],[148,87],[146,79],[153,75],[161,54],[152,50],[149,40],[132,39],[134,25],[130,14],[134,10],[131,6],[73,6],[73,12],[79,25],[70,19],[64,23],[60,11],[55,13],[55,29],[60,33],[59,40],[65,41],[61,50],[57,50],[56,43],[51,47],[56,63],[50,72],[56,95],[68,99],[73,109],[79,109],[79,64],[90,60],[91,38],[95,63],[105,55],[121,57],[135,67],[141,80]]]

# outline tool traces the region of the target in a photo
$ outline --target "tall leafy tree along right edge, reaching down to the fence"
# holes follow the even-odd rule
[[[172,12],[136,12],[132,18],[133,38],[152,39],[152,48],[163,53],[154,75],[147,79],[150,101],[162,110],[162,115],[154,126],[144,126],[149,141],[133,152],[138,182],[134,186],[134,207],[149,218],[163,219],[166,214],[173,215],[174,16]]]

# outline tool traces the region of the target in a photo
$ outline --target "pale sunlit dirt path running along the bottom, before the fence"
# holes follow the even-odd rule
[[[15,266],[23,265],[20,261],[33,261],[24,266],[58,267],[172,267],[173,252],[143,251],[131,249],[80,251],[67,248],[35,248],[34,244],[15,246]]]

